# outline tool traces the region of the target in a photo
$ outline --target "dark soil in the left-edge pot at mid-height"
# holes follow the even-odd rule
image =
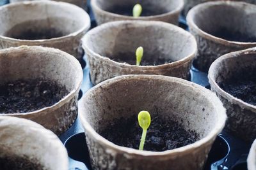
[[[40,110],[60,101],[68,91],[54,81],[18,80],[0,85],[0,113]]]

